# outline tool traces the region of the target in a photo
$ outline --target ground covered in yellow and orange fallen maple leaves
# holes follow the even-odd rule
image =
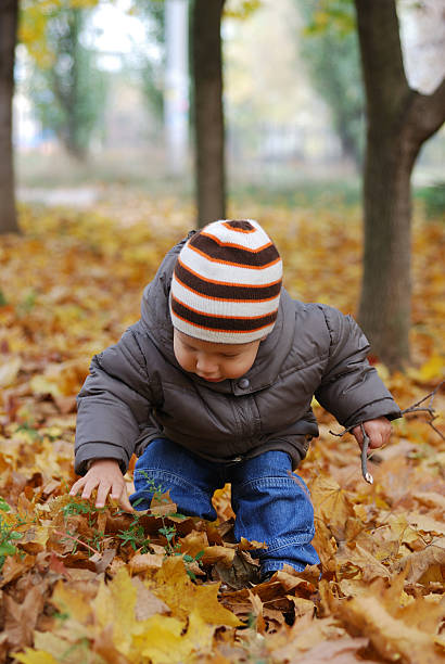
[[[232,216],[268,229],[295,297],[354,314],[357,213],[251,205]],[[315,406],[320,437],[300,472],[321,576],[288,569],[258,584],[252,545],[232,541],[229,487],[215,495],[217,523],[173,515],[168,495],[136,516],[71,498],[89,360],[137,320],[143,285],[192,210],[129,197],[118,212],[21,218],[24,235],[0,240],[0,662],[438,662],[445,445],[428,417],[394,423],[369,463],[371,486],[355,440],[332,436],[340,426]],[[442,379],[443,246],[443,224],[418,218],[412,368],[390,375],[373,358],[402,408]],[[443,405],[438,392],[442,432]]]

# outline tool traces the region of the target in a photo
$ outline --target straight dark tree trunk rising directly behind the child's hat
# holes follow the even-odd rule
[[[198,226],[226,216],[221,13],[225,0],[194,0],[192,65]]]

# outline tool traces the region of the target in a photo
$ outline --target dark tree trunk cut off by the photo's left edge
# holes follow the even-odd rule
[[[14,197],[12,98],[18,0],[0,2],[0,233],[18,233]]]

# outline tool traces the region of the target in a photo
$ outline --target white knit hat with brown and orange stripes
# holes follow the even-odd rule
[[[214,221],[182,247],[170,315],[189,336],[226,344],[262,339],[275,324],[282,263],[257,221]]]

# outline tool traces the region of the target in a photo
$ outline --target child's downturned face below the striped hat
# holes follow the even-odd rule
[[[214,344],[174,329],[174,350],[179,365],[214,383],[244,375],[255,361],[260,341]]]

